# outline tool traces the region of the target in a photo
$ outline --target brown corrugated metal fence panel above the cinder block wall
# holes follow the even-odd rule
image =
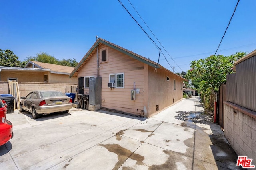
[[[227,75],[227,101],[256,111],[256,56],[236,65]]]

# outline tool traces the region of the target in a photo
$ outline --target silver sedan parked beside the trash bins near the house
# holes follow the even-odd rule
[[[32,113],[33,119],[39,114],[50,114],[64,112],[72,108],[72,98],[56,90],[38,90],[30,92],[26,97],[21,97],[20,112],[28,111]]]

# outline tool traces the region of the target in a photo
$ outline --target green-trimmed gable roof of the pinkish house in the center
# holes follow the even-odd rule
[[[143,57],[141,55],[138,55],[128,49],[125,49],[123,47],[120,47],[116,44],[113,44],[113,43],[110,43],[109,41],[106,41],[102,38],[98,38],[97,41],[92,45],[92,47],[89,49],[89,51],[86,53],[86,55],[84,55],[84,57],[82,58],[82,60],[78,63],[78,65],[74,68],[74,70],[70,73],[70,76],[69,77],[72,77],[72,76],[77,76],[78,74],[78,71],[82,68],[82,66],[88,61],[88,59],[90,59],[90,57],[97,51],[97,46],[98,45],[101,45],[101,44],[104,44],[104,45],[107,45],[108,47],[112,47],[113,49],[116,49],[118,51],[120,51],[121,53],[124,53],[134,59],[137,59],[138,61],[141,61],[142,63],[145,63],[145,64],[148,64],[149,66],[152,66],[152,67],[155,67],[155,68],[162,68],[168,72],[171,72],[170,70],[168,70],[167,68],[164,68],[163,66],[161,66],[160,64],[150,60],[150,59],[147,59],[146,57]],[[173,72],[171,72],[172,74],[175,74]],[[182,78],[183,80],[186,80],[184,79],[183,77],[179,76],[178,74],[175,74],[176,76]]]

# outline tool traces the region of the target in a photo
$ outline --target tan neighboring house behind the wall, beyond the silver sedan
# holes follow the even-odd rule
[[[69,78],[74,68],[56,64],[29,61],[25,68],[0,67],[0,81],[16,80],[17,82],[44,83],[77,83],[77,78]]]

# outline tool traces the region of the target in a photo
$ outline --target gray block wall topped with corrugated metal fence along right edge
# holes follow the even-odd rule
[[[236,61],[234,71],[226,81],[225,136],[238,156],[256,165],[256,50]]]

